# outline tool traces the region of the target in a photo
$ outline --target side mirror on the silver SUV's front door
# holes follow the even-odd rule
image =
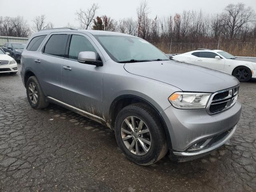
[[[82,51],[78,54],[78,62],[89,65],[103,66],[102,61],[97,60],[96,53],[92,51]]]

